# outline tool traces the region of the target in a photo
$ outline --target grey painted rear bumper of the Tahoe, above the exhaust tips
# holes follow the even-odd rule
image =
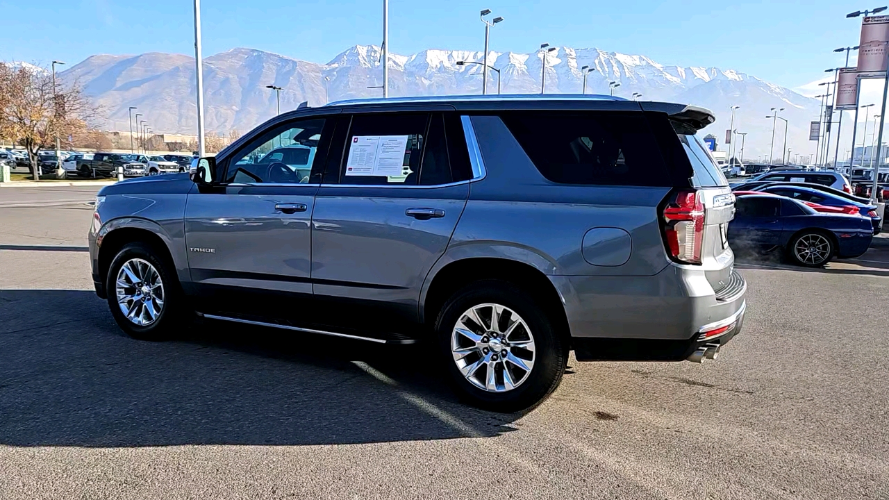
[[[747,295],[737,271],[717,294],[704,271],[691,266],[669,265],[645,277],[549,278],[565,304],[573,340],[689,341],[701,328],[739,314]]]

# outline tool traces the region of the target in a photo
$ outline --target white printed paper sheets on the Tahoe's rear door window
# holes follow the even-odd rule
[[[349,145],[346,175],[402,176],[410,135],[356,135]]]

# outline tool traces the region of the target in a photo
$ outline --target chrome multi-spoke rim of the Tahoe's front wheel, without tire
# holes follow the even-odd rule
[[[117,304],[133,325],[148,327],[164,309],[164,282],[155,267],[130,259],[117,271]]]

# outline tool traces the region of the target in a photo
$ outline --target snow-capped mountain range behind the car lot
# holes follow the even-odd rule
[[[389,95],[481,93],[482,67],[458,65],[480,62],[482,52],[429,49],[412,55],[389,54]],[[488,62],[500,69],[502,93],[539,93],[541,53],[490,52]],[[740,105],[735,128],[748,132],[747,157],[768,153],[771,108],[785,108],[790,120],[788,147],[810,148],[808,122],[817,117],[819,102],[789,89],[769,84],[733,69],[667,66],[642,55],[599,49],[558,47],[546,56],[547,93],[581,93],[583,66],[589,73],[587,93],[609,93],[609,82],[619,83],[615,95],[641,93],[642,100],[683,101],[712,109],[717,123],[705,133],[719,142],[729,127],[728,109]],[[141,55],[95,55],[61,74],[77,79],[105,110],[105,128],[127,130],[128,109],[139,109],[156,132],[194,133],[196,129],[194,59],[181,54],[149,52]],[[491,72],[488,92],[497,92],[497,73]],[[276,113],[276,95],[266,85],[284,87],[281,110],[300,102],[319,106],[327,101],[379,96],[382,83],[380,47],[356,45],[327,64],[296,60],[259,50],[236,48],[204,60],[207,130],[244,133]],[[783,127],[778,127],[776,157],[780,157]],[[797,149],[799,148],[799,149]]]

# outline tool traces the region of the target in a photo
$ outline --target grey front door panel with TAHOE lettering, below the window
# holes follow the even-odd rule
[[[229,186],[188,195],[186,244],[204,310],[267,314],[270,303],[245,295],[312,294],[311,214],[316,186]],[[239,300],[220,294],[237,293]]]

